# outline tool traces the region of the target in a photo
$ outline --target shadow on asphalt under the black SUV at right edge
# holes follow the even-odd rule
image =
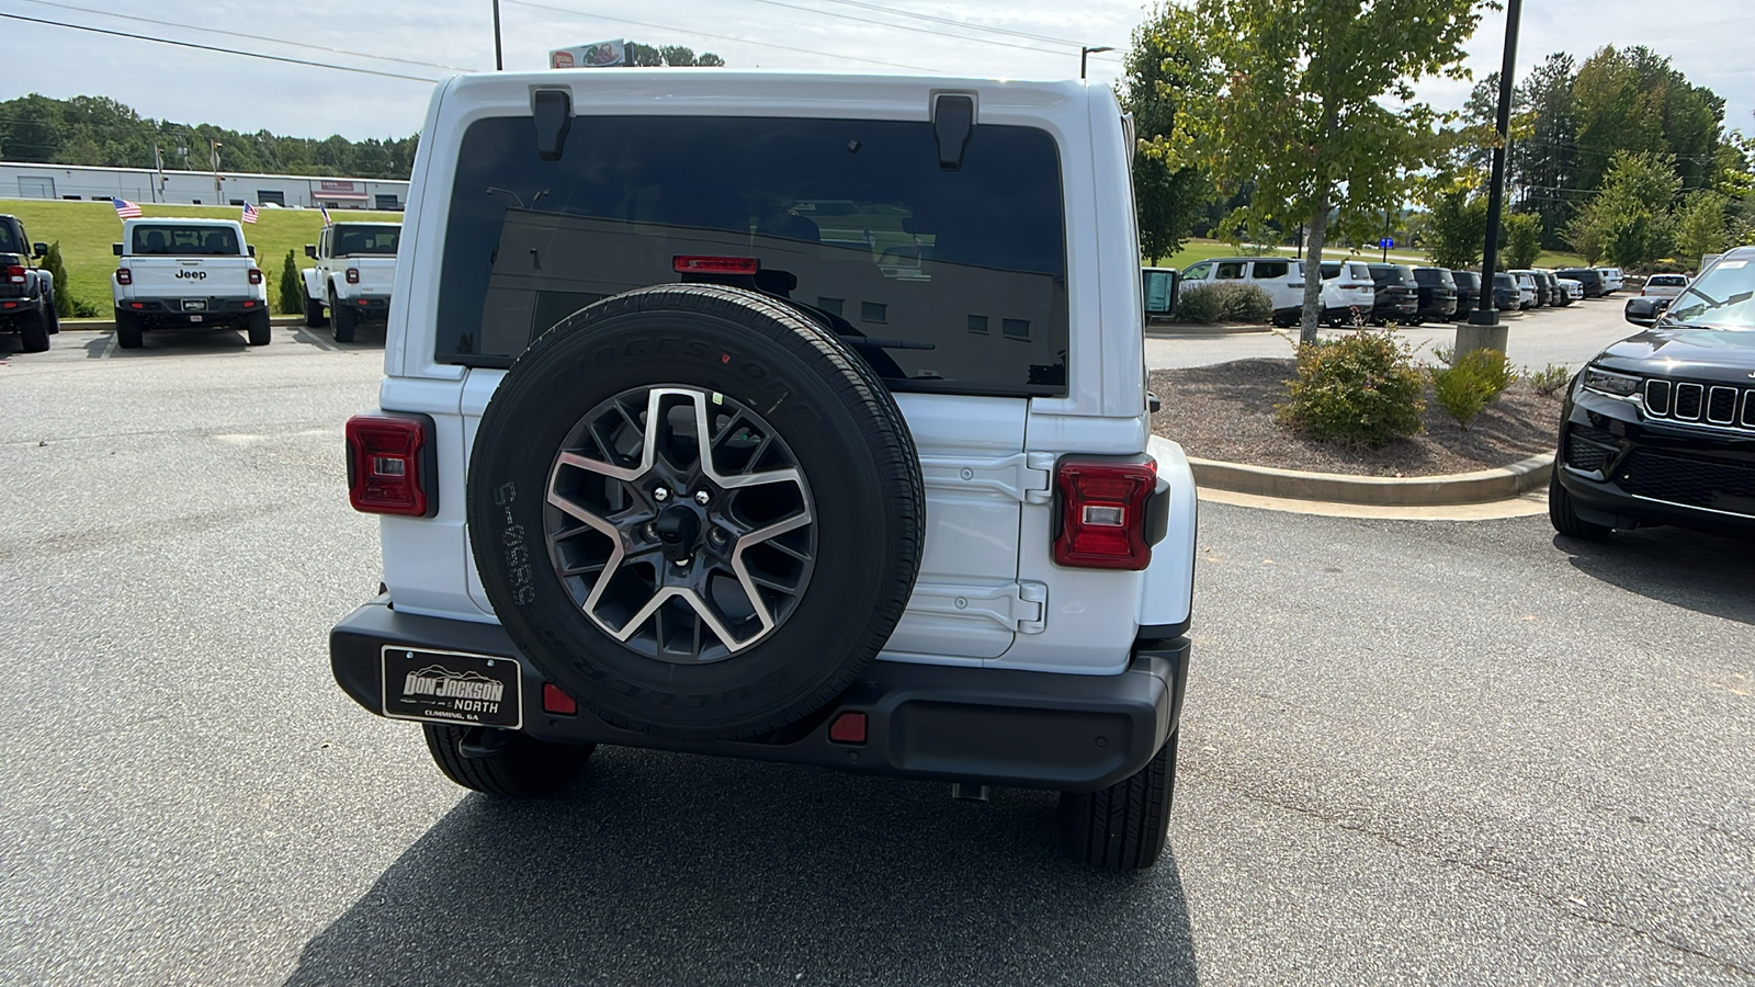
[[[1755,623],[1748,543],[1688,529],[1618,530],[1604,541],[1553,537],[1580,573],[1695,613]]]

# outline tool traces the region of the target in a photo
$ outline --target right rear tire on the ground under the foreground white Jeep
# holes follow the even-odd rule
[[[1093,868],[1143,871],[1158,862],[1176,790],[1176,738],[1135,774],[1095,792],[1060,792],[1060,847]]]

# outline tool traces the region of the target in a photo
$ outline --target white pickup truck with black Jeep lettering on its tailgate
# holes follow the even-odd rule
[[[140,346],[149,328],[242,328],[267,346],[269,288],[256,248],[233,220],[125,220],[114,244],[116,344]]]

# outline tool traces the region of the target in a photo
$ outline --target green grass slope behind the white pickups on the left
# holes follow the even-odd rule
[[[111,274],[116,270],[116,255],[111,244],[121,241],[121,220],[109,202],[40,202],[33,198],[0,198],[0,213],[11,213],[25,223],[32,241],[61,244],[61,260],[67,263],[67,281],[72,295],[81,302],[95,306],[100,318],[111,314]],[[144,218],[188,216],[200,220],[237,220],[242,209],[237,205],[154,205],[140,204]],[[335,213],[337,220],[402,220],[402,213]],[[323,214],[316,209],[263,209],[261,221],[254,227],[244,223],[244,241],[256,248],[256,265],[261,267],[263,281],[269,285],[270,311],[279,311],[281,265],[286,251],[293,251],[293,262],[300,267],[311,263],[305,258],[305,244],[318,242],[323,228]]]

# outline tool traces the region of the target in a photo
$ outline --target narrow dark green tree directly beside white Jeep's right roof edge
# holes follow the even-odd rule
[[[1206,205],[1207,183],[1188,163],[1183,104],[1200,98],[1206,77],[1193,39],[1174,9],[1157,7],[1134,28],[1121,107],[1134,114],[1134,204],[1139,213],[1139,251],[1148,263],[1181,249]]]

